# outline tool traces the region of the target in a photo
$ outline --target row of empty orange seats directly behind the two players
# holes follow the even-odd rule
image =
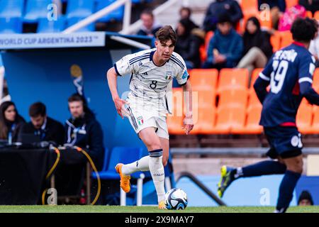
[[[255,69],[248,86],[246,69],[190,70],[194,97],[194,131],[192,134],[260,134],[262,104],[254,88],[254,81],[262,69]],[[319,69],[313,75],[313,87],[319,92]],[[169,133],[182,135],[183,94],[173,89],[174,112],[167,118]],[[319,108],[303,99],[296,123],[301,133],[319,133]]]

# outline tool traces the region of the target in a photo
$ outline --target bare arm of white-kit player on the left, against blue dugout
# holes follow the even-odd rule
[[[126,104],[126,101],[123,99],[120,99],[120,96],[118,96],[118,89],[116,88],[116,79],[118,75],[116,74],[116,70],[114,67],[111,67],[111,69],[108,70],[106,74],[106,78],[108,79],[108,88],[110,89],[110,92],[112,94],[112,99],[114,101],[114,105],[116,106],[116,111],[123,119],[123,116],[127,113],[125,113],[124,104]]]

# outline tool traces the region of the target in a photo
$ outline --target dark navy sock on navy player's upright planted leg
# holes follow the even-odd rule
[[[284,178],[281,180],[279,187],[279,197],[277,201],[276,210],[280,213],[286,212],[288,206],[293,198],[293,190],[296,187],[298,179],[301,177],[300,173],[287,170]]]

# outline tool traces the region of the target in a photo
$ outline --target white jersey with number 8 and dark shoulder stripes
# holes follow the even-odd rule
[[[138,100],[143,106],[151,106],[157,111],[167,111],[166,92],[169,82],[176,78],[180,85],[184,85],[189,74],[184,60],[176,52],[173,52],[164,65],[155,65],[152,60],[155,50],[156,48],[126,55],[114,64],[114,68],[120,76],[130,74],[130,100]]]

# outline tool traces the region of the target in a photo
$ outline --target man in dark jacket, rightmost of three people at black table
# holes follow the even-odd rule
[[[67,144],[78,146],[91,156],[96,168],[101,168],[104,155],[103,131],[101,125],[79,94],[68,99],[71,118],[66,121]]]

